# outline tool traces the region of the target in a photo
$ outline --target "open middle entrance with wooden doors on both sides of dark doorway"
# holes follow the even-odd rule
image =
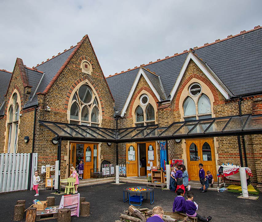
[[[150,168],[157,166],[156,142],[126,144],[126,176],[148,176]]]

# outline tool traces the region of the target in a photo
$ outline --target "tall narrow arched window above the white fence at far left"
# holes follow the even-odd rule
[[[7,110],[7,153],[16,153],[18,147],[18,122],[20,116],[21,101],[18,93],[14,92],[10,98]]]

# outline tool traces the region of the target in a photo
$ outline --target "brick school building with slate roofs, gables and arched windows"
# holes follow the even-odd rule
[[[1,152],[38,153],[41,168],[62,138],[62,178],[80,160],[90,178],[105,159],[136,177],[167,145],[192,180],[199,162],[212,175],[230,162],[261,187],[261,36],[257,26],[106,78],[87,35],[33,68],[17,58],[0,70]]]

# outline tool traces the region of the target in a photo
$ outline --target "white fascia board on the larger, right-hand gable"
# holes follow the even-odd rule
[[[221,92],[221,94],[226,98],[229,99],[229,95],[226,92],[226,90],[216,81],[216,79],[206,70],[206,68],[199,62],[199,60],[193,55],[192,52],[189,52],[185,63],[177,77],[177,81],[170,93],[171,95],[171,101],[173,100],[173,97],[175,95],[175,93],[177,92],[177,88],[182,80],[182,77],[184,76],[185,70],[189,64],[190,59],[192,59],[194,61],[194,63],[201,69],[201,71],[208,77],[208,79],[212,82],[212,84],[214,84],[214,86],[218,89],[219,92]]]

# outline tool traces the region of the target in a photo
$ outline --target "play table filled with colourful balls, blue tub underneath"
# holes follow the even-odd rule
[[[138,202],[139,204],[132,204],[134,206],[141,206],[142,201],[147,199],[147,194],[150,193],[150,204],[154,203],[154,188],[152,187],[125,187],[123,189],[124,192],[124,202],[129,200],[129,204],[131,202]],[[127,193],[127,199],[125,199],[125,192]],[[130,196],[131,194],[131,196]],[[142,196],[142,194],[146,194],[146,198]]]

